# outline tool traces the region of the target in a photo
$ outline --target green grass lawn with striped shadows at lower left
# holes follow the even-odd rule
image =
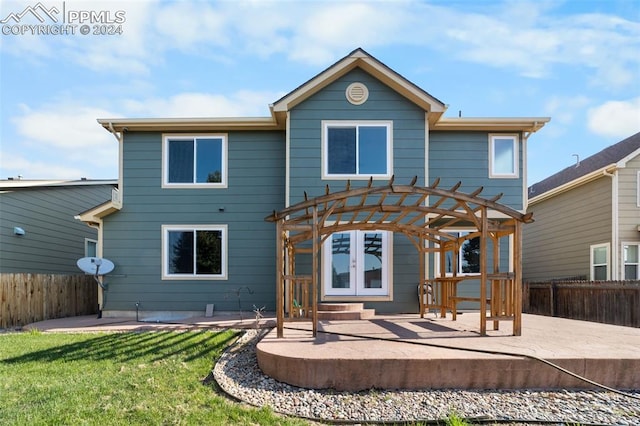
[[[203,383],[236,332],[0,334],[2,425],[305,425]]]

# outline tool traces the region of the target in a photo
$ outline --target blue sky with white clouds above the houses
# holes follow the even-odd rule
[[[550,117],[529,185],[640,131],[640,0],[0,0],[0,29],[0,179],[116,179],[96,119],[268,117],[358,47],[445,116]]]

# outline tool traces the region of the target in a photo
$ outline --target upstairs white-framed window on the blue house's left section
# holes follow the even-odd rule
[[[165,135],[162,186],[227,187],[226,135]]]

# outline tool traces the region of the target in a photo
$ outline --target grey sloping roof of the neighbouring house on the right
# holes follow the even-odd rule
[[[626,162],[640,155],[640,133],[636,133],[602,151],[579,160],[577,164],[567,167],[548,178],[529,187],[531,201],[545,193],[563,187],[572,187],[590,178],[599,177],[604,171],[612,171],[624,167]]]

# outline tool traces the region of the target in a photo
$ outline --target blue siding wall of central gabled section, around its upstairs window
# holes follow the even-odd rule
[[[369,90],[367,102],[356,106],[345,98],[347,86],[364,83]],[[290,204],[332,191],[343,190],[344,180],[322,180],[322,120],[390,120],[393,122],[393,173],[395,182],[408,184],[418,176],[425,179],[425,113],[398,93],[356,69],[333,82],[321,92],[297,105],[290,115]],[[387,179],[375,184],[386,183]],[[352,180],[351,187],[367,184]],[[378,312],[416,312],[418,309],[418,256],[405,237],[394,236],[393,303],[367,303]]]

